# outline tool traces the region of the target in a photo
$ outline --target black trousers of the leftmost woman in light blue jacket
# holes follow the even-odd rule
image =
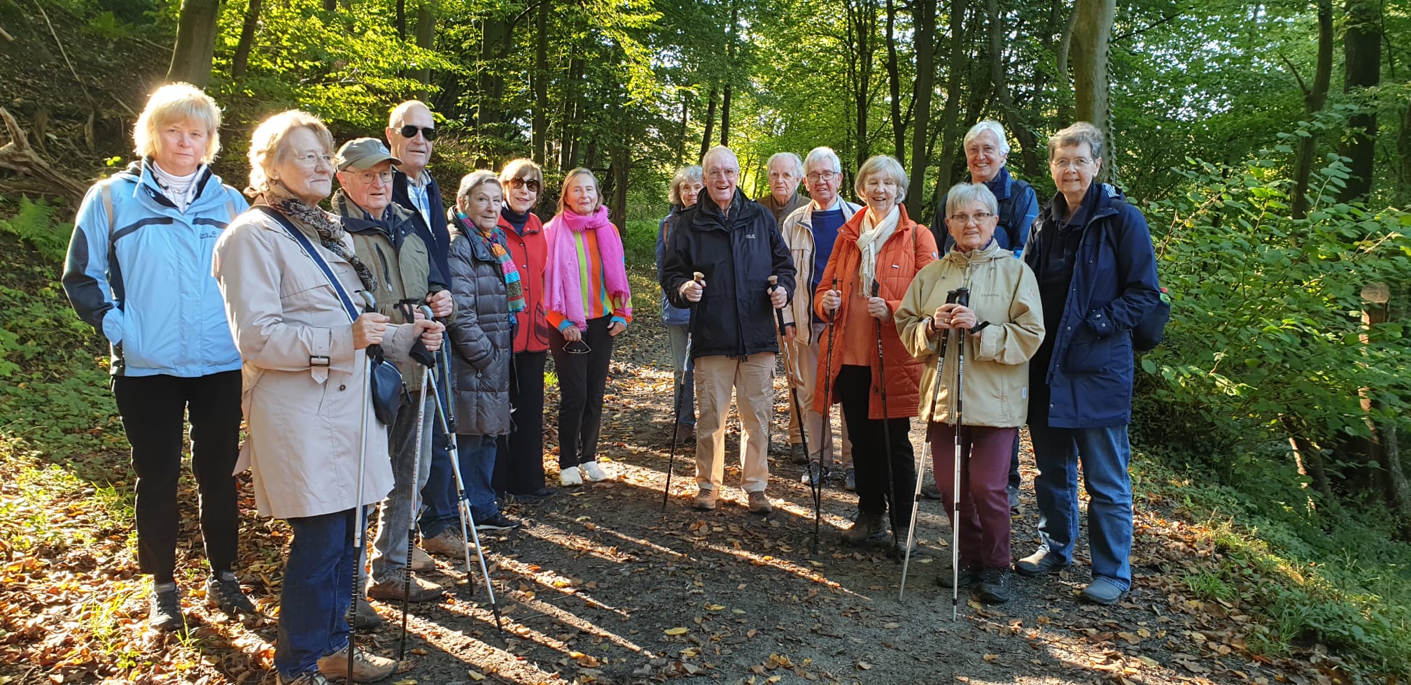
[[[157,582],[176,571],[181,509],[176,481],[190,416],[190,471],[200,493],[200,534],[212,571],[236,564],[240,509],[236,459],[240,457],[240,372],[196,378],[114,376],[113,396],[133,445],[137,472],[137,565]]]

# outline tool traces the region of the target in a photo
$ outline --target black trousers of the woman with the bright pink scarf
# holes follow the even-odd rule
[[[598,430],[602,427],[602,393],[608,382],[608,361],[612,359],[612,335],[608,335],[610,316],[588,320],[583,340],[564,351],[563,334],[549,337],[553,366],[559,374],[559,468],[577,467],[598,458]],[[518,413],[518,412],[515,412]]]

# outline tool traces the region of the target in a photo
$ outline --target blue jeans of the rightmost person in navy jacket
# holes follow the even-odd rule
[[[1038,536],[1050,554],[1072,561],[1078,540],[1078,462],[1088,488],[1092,576],[1132,588],[1132,447],[1127,427],[1050,428],[1029,424],[1038,478]]]

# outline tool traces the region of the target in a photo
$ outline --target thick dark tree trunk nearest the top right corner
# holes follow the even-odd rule
[[[1343,93],[1360,94],[1381,82],[1381,6],[1379,0],[1348,0],[1348,30],[1342,35]],[[1338,154],[1350,159],[1352,178],[1338,192],[1338,202],[1366,200],[1371,193],[1377,113],[1366,104],[1348,120],[1348,135]]]

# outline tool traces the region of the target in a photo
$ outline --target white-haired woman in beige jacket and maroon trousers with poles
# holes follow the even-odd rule
[[[1009,448],[1029,410],[1029,358],[1044,337],[1044,321],[1034,273],[995,240],[995,195],[982,183],[961,183],[947,197],[945,226],[955,247],[916,275],[896,311],[896,327],[907,351],[926,362],[919,410],[930,428],[947,514],[955,510],[959,420],[961,520],[951,519],[952,527],[959,526],[957,576],[962,586],[978,581],[981,600],[999,603],[1009,600]],[[948,303],[947,295],[961,288],[969,290],[968,304]],[[947,358],[937,378],[943,347]],[[959,379],[962,351],[965,378]],[[964,385],[962,397],[955,396],[957,383]],[[945,586],[952,582],[951,574],[938,579]]]

